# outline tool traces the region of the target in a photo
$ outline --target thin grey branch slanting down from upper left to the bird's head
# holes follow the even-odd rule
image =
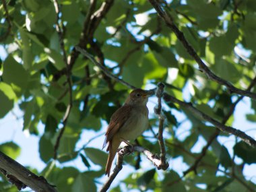
[[[128,88],[131,88],[133,90],[136,88],[135,86],[132,86],[131,84],[128,84],[127,82],[125,82],[123,79],[120,79],[119,77],[116,77],[115,75],[110,73],[110,71],[108,71],[108,69],[106,69],[106,67],[104,67],[103,65],[98,63],[94,59],[94,57],[92,55],[90,55],[90,53],[88,53],[87,51],[85,51],[81,47],[75,46],[75,49],[77,51],[79,51],[80,53],[82,53],[84,56],[86,56],[88,59],[90,59],[92,61],[92,63],[94,63],[97,67],[99,67],[108,77],[115,79],[117,82],[119,82],[121,84],[124,84],[125,86],[127,86]]]

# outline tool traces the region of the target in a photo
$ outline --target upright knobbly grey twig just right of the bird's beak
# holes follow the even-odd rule
[[[166,150],[164,146],[164,115],[162,115],[162,96],[164,92],[164,84],[158,83],[157,89],[156,89],[156,97],[158,98],[158,105],[154,108],[156,115],[158,115],[159,119],[159,129],[158,129],[158,143],[160,146],[160,160],[161,160],[161,168],[163,170],[166,170],[169,166],[168,162],[166,162]]]

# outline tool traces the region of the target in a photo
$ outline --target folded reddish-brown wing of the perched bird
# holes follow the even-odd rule
[[[116,110],[116,112],[112,115],[108,128],[106,129],[106,138],[103,144],[103,148],[106,146],[106,143],[108,143],[108,141],[113,138],[115,133],[117,133],[125,124],[127,119],[129,119],[131,115],[131,108],[132,107],[129,105],[121,106],[121,108]]]

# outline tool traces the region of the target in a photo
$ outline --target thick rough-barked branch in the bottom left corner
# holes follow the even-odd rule
[[[2,152],[0,152],[0,168],[1,172],[5,174],[8,181],[14,185],[18,185],[24,189],[28,186],[34,191],[40,192],[56,192],[57,190],[50,185],[44,177],[38,177],[36,174],[9,158]],[[20,181],[20,183],[19,183]],[[18,187],[17,186],[17,187]],[[20,189],[19,189],[20,190]]]

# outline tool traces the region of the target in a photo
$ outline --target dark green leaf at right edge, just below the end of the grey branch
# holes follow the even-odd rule
[[[249,146],[247,143],[240,141],[234,146],[234,154],[247,164],[256,162],[256,149]]]

